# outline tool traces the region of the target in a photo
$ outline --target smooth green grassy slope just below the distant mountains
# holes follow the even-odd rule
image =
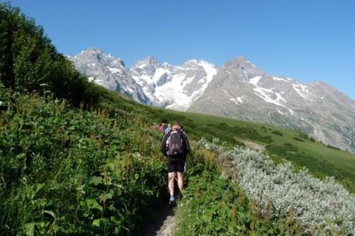
[[[266,153],[275,162],[289,160],[298,169],[307,167],[312,174],[320,178],[334,176],[349,191],[355,193],[355,155],[334,150],[320,142],[312,142],[312,140],[304,138],[301,138],[303,142],[295,140],[293,137],[300,138],[300,134],[293,130],[217,116],[143,106],[134,101],[123,99],[121,96],[116,96],[114,92],[107,93],[104,89],[102,89],[102,94],[104,97],[102,106],[104,107],[109,109],[124,108],[126,111],[141,113],[152,122],[159,122],[162,118],[167,118],[170,121],[178,120],[185,126],[187,133],[192,138],[198,139],[204,136],[207,139],[212,139],[212,137],[219,137],[220,140],[231,145],[241,144],[240,141],[243,140],[250,140],[265,146],[273,145],[276,148],[266,150]],[[282,136],[274,134],[275,130],[282,133]],[[294,150],[284,150],[285,143],[290,143]]]

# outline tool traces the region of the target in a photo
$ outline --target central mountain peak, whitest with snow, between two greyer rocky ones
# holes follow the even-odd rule
[[[130,72],[153,104],[185,111],[203,94],[216,69],[202,60],[173,66],[159,64],[154,57],[147,57],[134,64]]]

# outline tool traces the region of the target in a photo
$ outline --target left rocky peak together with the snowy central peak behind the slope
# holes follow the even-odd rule
[[[216,74],[214,65],[203,60],[173,66],[160,64],[151,56],[126,68],[121,59],[97,48],[69,58],[80,72],[107,89],[128,94],[141,103],[179,111],[187,110]]]

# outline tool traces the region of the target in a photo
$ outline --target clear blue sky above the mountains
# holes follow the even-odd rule
[[[0,0],[2,1],[2,0]],[[87,47],[127,66],[153,55],[217,66],[243,55],[269,74],[322,81],[355,99],[355,1],[13,0],[58,50]]]

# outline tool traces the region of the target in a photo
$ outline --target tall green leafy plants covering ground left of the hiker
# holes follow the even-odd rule
[[[144,120],[0,91],[0,235],[128,234],[166,196]]]

